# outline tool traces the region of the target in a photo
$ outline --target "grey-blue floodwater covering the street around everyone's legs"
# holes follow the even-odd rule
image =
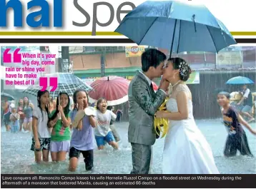
[[[256,128],[256,123],[250,124]],[[102,151],[97,150],[95,143],[94,150],[94,170],[86,172],[82,155],[79,158],[79,166],[76,173],[102,173],[102,174],[127,174],[132,169],[131,146],[127,141],[128,123],[115,123],[117,130],[122,138],[119,143],[120,149],[113,150],[107,146]],[[256,158],[246,156],[237,156],[234,158],[225,158],[223,149],[227,132],[221,120],[200,120],[197,126],[207,138],[212,147],[215,156],[217,168],[222,174],[255,174]],[[256,137],[247,131],[248,142],[252,154],[256,157]],[[67,174],[68,172],[68,154],[67,160],[63,163],[44,163],[36,165],[34,163],[34,153],[30,150],[31,133],[6,133],[5,128],[1,127],[1,173],[2,174]],[[164,139],[158,139],[153,146],[153,162],[151,173],[162,173],[162,151]],[[49,158],[51,159],[51,158]]]

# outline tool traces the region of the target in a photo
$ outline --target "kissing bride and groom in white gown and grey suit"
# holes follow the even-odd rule
[[[169,129],[164,142],[163,174],[218,174],[210,145],[195,124],[192,95],[185,81],[191,69],[182,58],[169,58],[157,49],[142,54],[142,71],[129,85],[128,141],[132,145],[131,174],[148,174],[152,145],[157,134],[154,117],[167,118]],[[157,92],[152,79],[162,76]],[[167,111],[157,111],[165,98]]]

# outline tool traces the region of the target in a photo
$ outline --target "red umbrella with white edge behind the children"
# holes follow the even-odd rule
[[[90,91],[89,97],[92,100],[98,100],[101,97],[107,99],[109,106],[116,106],[128,101],[129,81],[118,76],[107,76],[99,78],[90,85],[94,88]]]

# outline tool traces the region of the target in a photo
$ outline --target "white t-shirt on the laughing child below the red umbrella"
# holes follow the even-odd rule
[[[111,131],[110,122],[117,118],[117,115],[112,111],[107,110],[105,113],[101,113],[97,110],[96,113],[97,127],[94,129],[95,136],[107,136],[107,133]]]

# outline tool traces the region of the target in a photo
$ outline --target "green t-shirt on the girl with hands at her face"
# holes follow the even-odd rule
[[[54,116],[55,110],[51,112],[51,115]],[[68,114],[67,118],[70,118],[70,113]],[[64,127],[61,123],[61,120],[58,120],[54,128],[51,132],[51,141],[69,141],[71,138],[71,132],[69,127]]]

